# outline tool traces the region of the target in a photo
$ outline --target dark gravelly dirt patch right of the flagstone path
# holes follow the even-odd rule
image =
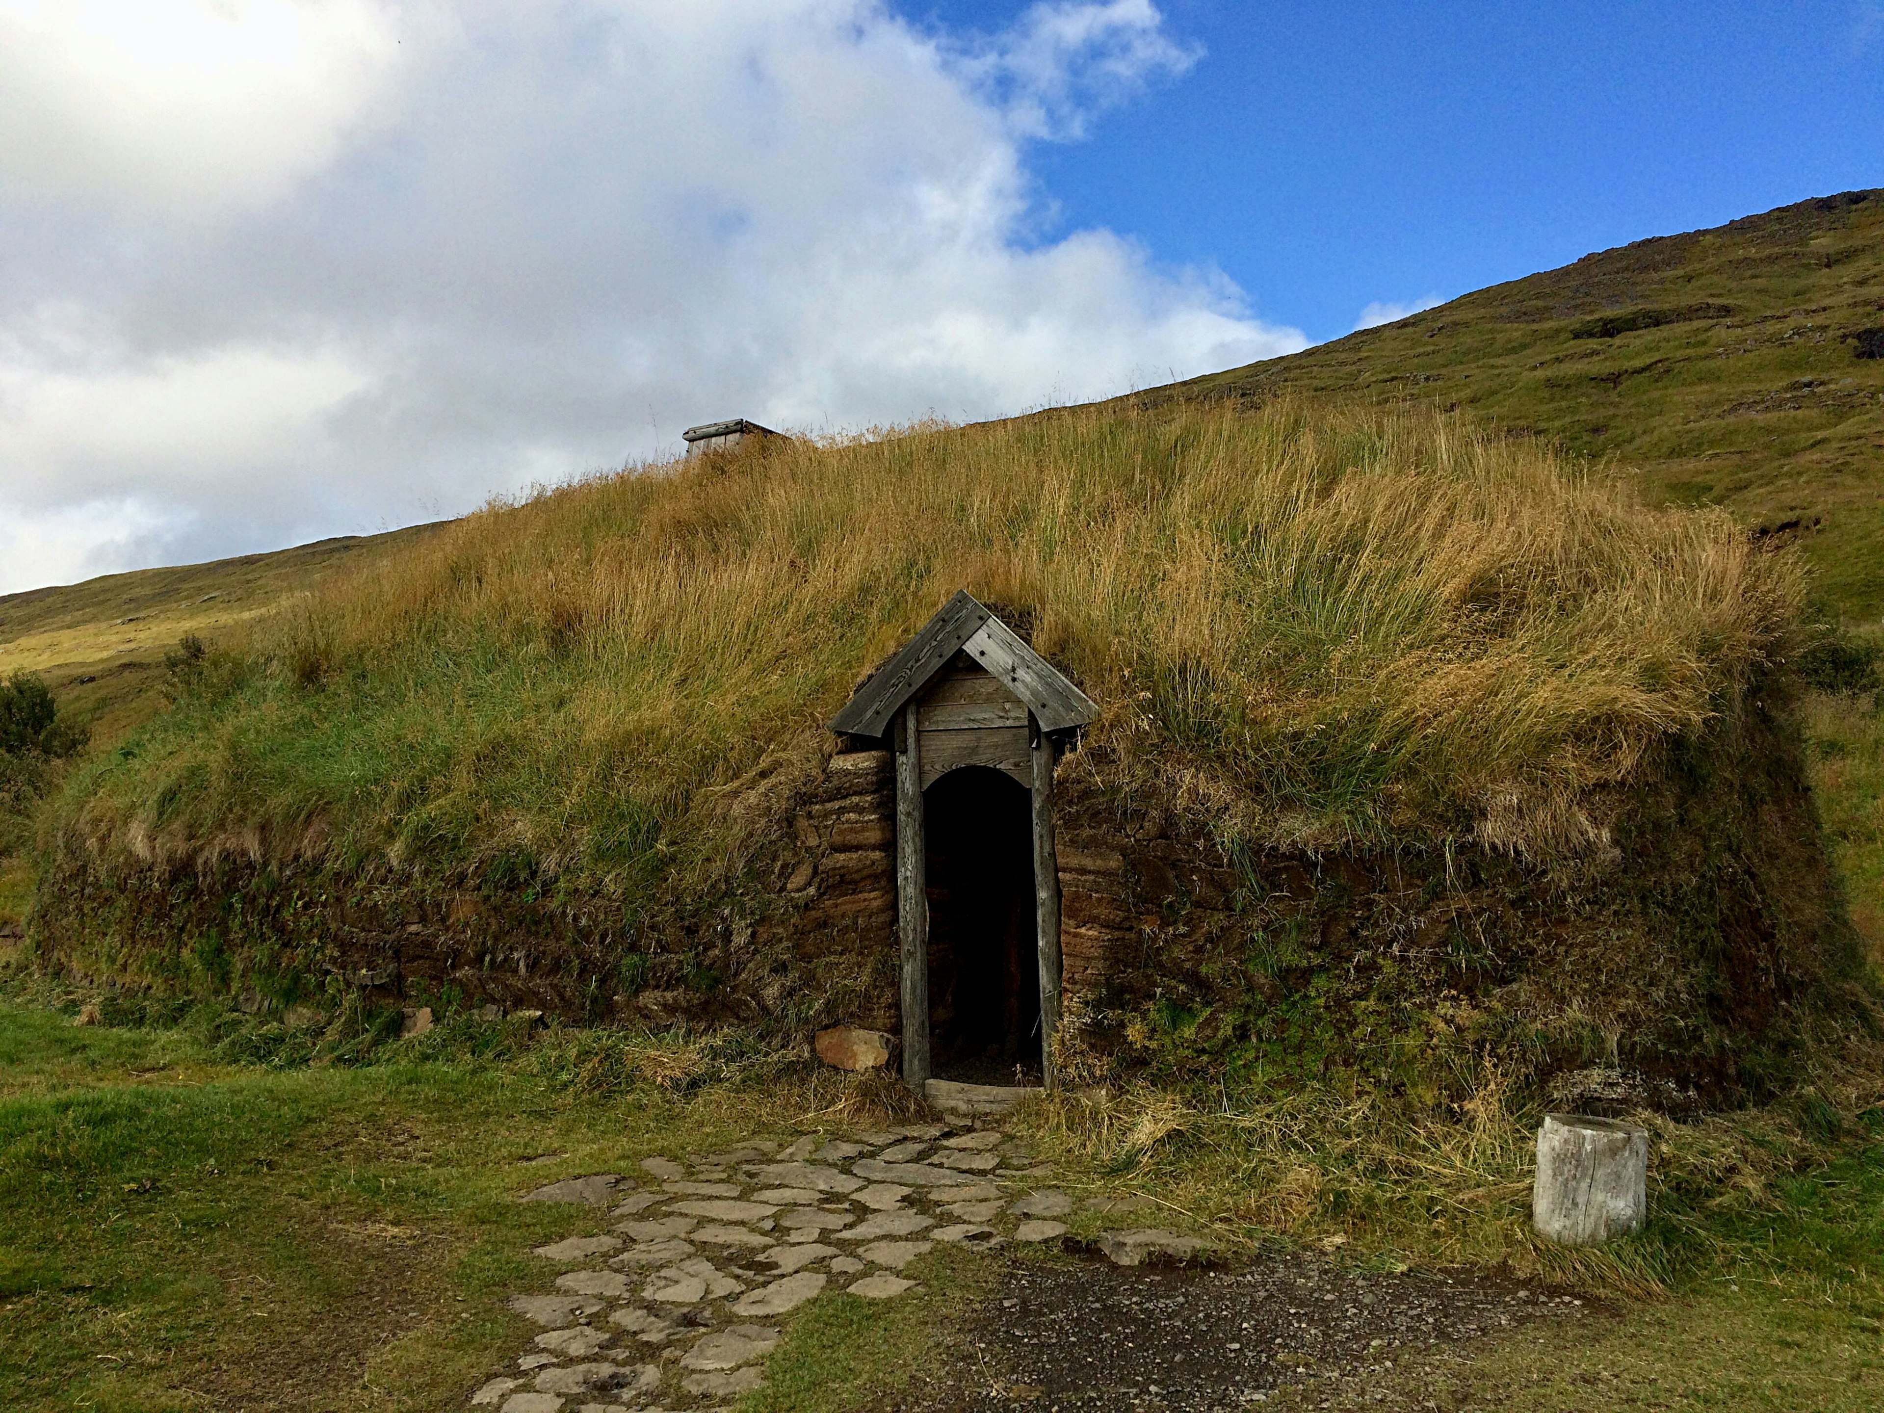
[[[1584,1306],[1517,1281],[1343,1270],[1287,1257],[1249,1266],[1012,1264],[950,1358],[918,1375],[897,1413],[1185,1409],[1215,1413],[1336,1381],[1383,1405],[1407,1364]],[[1298,1402],[1298,1400],[1291,1400]]]

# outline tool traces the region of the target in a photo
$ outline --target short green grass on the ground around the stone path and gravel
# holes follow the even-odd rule
[[[673,1049],[669,1074],[682,1083],[661,1089],[624,1078],[633,1064],[601,1063],[625,1038],[524,1040],[463,1025],[365,1064],[230,1063],[236,1040],[260,1053],[252,1021],[200,1008],[73,1027],[79,997],[62,1010],[49,999],[15,976],[0,1000],[0,1379],[8,1407],[34,1413],[247,1407],[290,1392],[307,1409],[456,1405],[528,1345],[531,1328],[501,1307],[511,1292],[550,1287],[554,1270],[528,1247],[605,1225],[512,1194],[624,1172],[654,1151],[835,1125],[852,1093],[829,1072],[757,1057],[708,1078],[699,1055]],[[1443,1407],[1875,1407],[1880,1119],[1873,1108],[1843,1134],[1778,1144],[1786,1151],[1765,1166],[1771,1123],[1752,1115],[1737,1138],[1714,1132],[1716,1157],[1733,1161],[1694,1168],[1692,1191],[1664,1185],[1643,1238],[1601,1260],[1532,1268],[1598,1298],[1598,1317],[1454,1351],[1462,1358],[1415,1356],[1389,1389],[1413,1404],[1443,1394]],[[1287,1166],[1249,1162],[1268,1142],[1251,1125],[1172,1127],[1155,1110],[1134,1123],[1046,1112],[1036,1123],[1061,1185],[1144,1191],[1170,1204],[1155,1221],[1215,1226],[1232,1249],[1323,1249],[1340,1230],[1345,1259],[1398,1266],[1462,1255],[1434,1232],[1436,1206],[1460,1228],[1471,1221],[1471,1202],[1453,1200],[1464,1187],[1436,1204],[1432,1185],[1383,1181],[1366,1210],[1332,1202],[1291,1225],[1302,1183]],[[1323,1138],[1336,1140],[1323,1145],[1330,1176],[1345,1164],[1355,1181],[1375,1181],[1336,1129]],[[1681,1157],[1675,1142],[1673,1161],[1699,1151]],[[1402,1149],[1419,1159],[1417,1144]],[[1511,1202],[1488,1200],[1488,1226]],[[1264,1211],[1281,1217],[1251,1221]],[[1648,1264],[1660,1291],[1632,1296],[1630,1272]],[[908,1370],[961,1349],[997,1266],[948,1253],[916,1274],[923,1291],[891,1306],[827,1294],[797,1311],[746,1413],[882,1407]],[[1332,1392],[1366,1405],[1377,1383],[1317,1385],[1307,1404]]]

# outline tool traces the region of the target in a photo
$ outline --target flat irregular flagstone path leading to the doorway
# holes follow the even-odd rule
[[[1066,1232],[1072,1198],[997,1130],[912,1125],[725,1153],[646,1159],[635,1178],[592,1174],[526,1200],[607,1206],[609,1234],[537,1247],[565,1270],[554,1294],[514,1296],[543,1328],[516,1372],[471,1396],[495,1413],[718,1407],[757,1389],[776,1323],[825,1291],[893,1300],[938,1243],[991,1251]],[[1132,1264],[1183,1238],[1119,1234]],[[1194,1245],[1194,1243],[1191,1243]]]

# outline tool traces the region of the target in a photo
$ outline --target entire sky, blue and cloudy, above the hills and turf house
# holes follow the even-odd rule
[[[0,0],[0,592],[1876,185],[1884,0]]]

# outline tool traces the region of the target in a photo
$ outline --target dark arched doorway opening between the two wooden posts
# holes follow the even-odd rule
[[[1040,1083],[1032,797],[983,765],[923,791],[934,1072]]]

